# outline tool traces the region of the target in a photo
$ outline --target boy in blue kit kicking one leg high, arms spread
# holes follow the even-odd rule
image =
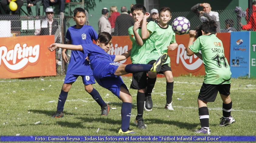
[[[123,53],[122,55],[109,55],[109,51],[112,44],[112,37],[108,32],[101,32],[98,35],[96,44],[82,44],[82,45],[67,45],[53,43],[48,49],[54,51],[57,48],[71,49],[82,51],[84,54],[88,54],[88,60],[93,71],[94,78],[97,83],[102,87],[111,91],[119,99],[122,100],[121,108],[121,129],[118,133],[131,134],[135,133],[129,129],[131,118],[131,94],[128,88],[124,84],[124,81],[120,77],[128,73],[138,72],[159,72],[162,64],[167,60],[167,53],[164,53],[153,64],[128,64],[124,65],[118,63],[118,61],[125,60],[130,56],[131,50]]]

